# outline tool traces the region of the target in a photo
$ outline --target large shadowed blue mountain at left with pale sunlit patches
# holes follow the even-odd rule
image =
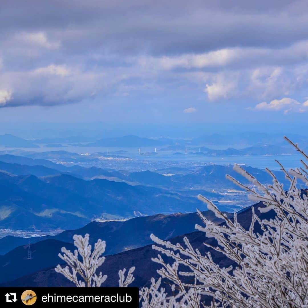
[[[193,212],[205,208],[195,197],[70,175],[9,176],[0,173],[0,228],[71,229],[94,218],[133,217],[134,213]]]

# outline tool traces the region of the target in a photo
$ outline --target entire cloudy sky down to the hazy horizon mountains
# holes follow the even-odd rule
[[[2,0],[2,126],[306,125],[307,12],[305,0]]]

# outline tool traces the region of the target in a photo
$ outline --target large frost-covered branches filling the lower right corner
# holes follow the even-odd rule
[[[304,160],[308,159],[297,144],[285,139]],[[296,186],[298,180],[308,185],[308,166],[304,160],[302,167],[288,172],[278,162],[290,182],[287,191],[269,169],[266,171],[273,178],[269,185],[261,184],[239,165],[234,170],[252,185],[241,184],[226,175],[245,189],[251,200],[263,203],[258,208],[261,213],[274,211],[260,219],[251,207],[249,228],[237,222],[236,213],[229,219],[213,202],[199,195],[224,221],[216,225],[198,211],[204,226],[196,225],[196,229],[217,242],[215,245],[204,242],[208,247],[205,255],[193,248],[187,237],[181,245],[152,234],[156,243],[152,248],[160,253],[152,261],[162,265],[158,270],[161,278],[152,279],[149,288],[140,290],[142,307],[308,307],[308,198],[307,190]],[[216,264],[212,257],[215,251],[224,254],[233,266],[222,268]],[[162,255],[172,258],[174,263],[166,263]],[[162,279],[171,284],[172,295],[160,287]],[[205,295],[212,298],[207,306],[203,303]]]

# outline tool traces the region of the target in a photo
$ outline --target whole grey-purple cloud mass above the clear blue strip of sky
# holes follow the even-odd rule
[[[286,0],[1,1],[0,106],[176,93],[183,83],[210,100],[304,91],[307,9]]]

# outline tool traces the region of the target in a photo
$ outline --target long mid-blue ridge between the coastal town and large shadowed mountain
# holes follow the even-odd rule
[[[19,164],[5,164],[1,161]],[[36,165],[42,164],[41,165]],[[30,165],[26,166],[24,164]],[[258,168],[252,168],[245,166],[245,169],[251,172],[259,180],[264,183],[270,183],[272,181],[270,175],[264,170]],[[167,188],[172,191],[183,191],[184,189],[198,188],[202,190],[225,190],[237,188],[237,186],[231,183],[225,178],[225,174],[228,173],[232,176],[239,177],[233,166],[221,166],[221,165],[205,165],[201,168],[191,169],[187,168],[166,168],[158,170],[158,172],[152,171],[140,171],[140,172],[128,172],[128,171],[107,171],[101,168],[91,167],[84,168],[78,165],[71,167],[63,166],[62,164],[55,164],[49,160],[33,160],[21,156],[13,155],[0,155],[0,170],[4,170],[15,175],[29,175],[34,174],[36,176],[48,176],[56,175],[59,173],[71,174],[72,176],[82,179],[107,179],[114,181],[124,181],[128,184],[141,184],[147,186],[154,186],[160,188]],[[170,176],[164,176],[163,174],[170,174]],[[274,174],[278,176],[278,179],[282,183],[287,183],[284,175],[280,171],[275,171]],[[247,183],[245,178],[241,179],[244,183]],[[196,193],[197,194],[197,193]]]

